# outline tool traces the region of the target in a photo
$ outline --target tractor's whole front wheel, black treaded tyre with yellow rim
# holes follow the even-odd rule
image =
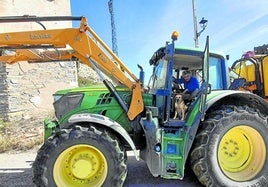
[[[76,126],[61,130],[44,143],[33,164],[33,174],[38,187],[123,186],[127,175],[125,152],[107,132]]]

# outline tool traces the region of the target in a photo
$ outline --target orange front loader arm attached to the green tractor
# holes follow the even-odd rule
[[[0,22],[1,20],[5,19],[1,18]],[[0,62],[9,64],[18,61],[50,62],[78,59],[97,73],[102,72],[132,90],[130,106],[125,107],[130,120],[143,111],[142,83],[88,26],[85,17],[81,17],[79,28],[0,33],[1,49],[15,50],[14,53],[9,52],[12,54],[4,54],[3,51],[0,54]]]

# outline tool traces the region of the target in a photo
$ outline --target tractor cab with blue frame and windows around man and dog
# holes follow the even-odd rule
[[[171,121],[174,118],[176,95],[182,93],[186,88],[184,84],[176,84],[173,80],[182,79],[184,71],[190,72],[191,76],[195,77],[199,83],[198,92],[184,101],[187,105],[184,119],[187,119],[189,110],[192,109],[197,98],[202,95],[202,83],[205,79],[207,79],[207,84],[211,90],[226,90],[229,87],[228,68],[223,55],[219,53],[207,54],[208,72],[205,73],[204,77],[204,71],[206,71],[204,68],[205,52],[197,48],[177,47],[172,49],[174,47],[172,45],[169,44],[158,49],[150,59],[150,65],[154,67],[149,81],[149,93],[155,97],[155,106],[159,109],[159,117],[161,116],[163,121]],[[181,120],[180,118],[176,119]]]

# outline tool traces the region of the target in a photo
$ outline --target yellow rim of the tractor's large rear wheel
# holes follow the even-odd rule
[[[241,125],[230,129],[221,139],[218,160],[224,174],[235,181],[253,179],[263,168],[266,146],[261,134]]]

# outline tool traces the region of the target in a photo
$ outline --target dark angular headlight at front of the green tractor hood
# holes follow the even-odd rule
[[[54,109],[58,119],[61,119],[65,114],[80,106],[84,94],[66,94],[54,95]]]

